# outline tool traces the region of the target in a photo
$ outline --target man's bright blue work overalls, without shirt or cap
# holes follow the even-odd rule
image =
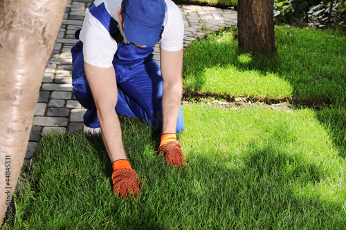
[[[104,8],[104,3],[89,7],[89,12],[113,35],[118,28],[117,22]],[[79,39],[79,31],[75,34]],[[78,41],[72,52],[73,94],[86,108],[84,124],[91,128],[100,127],[93,95],[84,71],[83,44]],[[138,48],[134,44],[118,43],[113,58],[118,86],[116,113],[127,117],[145,119],[153,129],[162,129],[162,76],[160,66],[154,59],[154,48]],[[102,80],[102,79],[100,79]],[[184,129],[181,106],[176,124],[176,133]]]

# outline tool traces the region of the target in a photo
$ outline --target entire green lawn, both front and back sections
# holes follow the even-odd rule
[[[182,105],[187,165],[167,166],[160,133],[120,116],[144,182],[121,199],[100,136],[46,135],[4,229],[346,229],[345,34],[275,32],[274,54],[239,50],[233,30],[186,48],[184,93],[196,98]],[[206,95],[259,103],[210,105]],[[260,103],[292,99],[319,106]]]

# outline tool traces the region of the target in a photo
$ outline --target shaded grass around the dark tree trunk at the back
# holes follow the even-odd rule
[[[240,71],[273,73],[284,79],[293,88],[291,96],[296,102],[345,105],[345,33],[282,27],[277,27],[275,33],[277,51],[271,53],[239,50],[232,33],[224,35],[224,32],[219,37],[209,35],[210,39],[190,44],[183,66],[185,82],[190,82],[185,95],[199,94],[207,81],[203,76],[206,69],[233,65]]]

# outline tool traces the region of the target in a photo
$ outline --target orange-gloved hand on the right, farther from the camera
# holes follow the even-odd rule
[[[181,145],[176,141],[175,133],[165,133],[161,135],[161,144],[158,153],[166,157],[167,164],[182,166],[185,163]]]

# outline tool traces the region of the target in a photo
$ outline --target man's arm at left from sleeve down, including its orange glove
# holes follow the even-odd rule
[[[127,160],[122,144],[120,123],[115,110],[118,101],[118,88],[114,67],[100,68],[84,61],[84,69],[98,111],[103,142],[109,158],[113,162],[114,171],[111,176],[113,189],[116,194],[120,193],[123,198],[128,193],[131,195],[140,194],[141,180]]]

